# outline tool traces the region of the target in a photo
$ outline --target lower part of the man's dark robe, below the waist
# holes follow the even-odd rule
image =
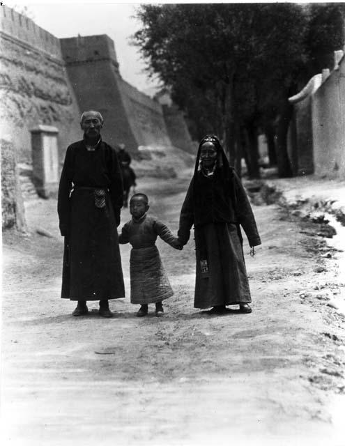
[[[106,206],[97,208],[92,190],[75,190],[70,206],[70,237],[65,238],[61,298],[124,298],[116,220],[109,195]]]

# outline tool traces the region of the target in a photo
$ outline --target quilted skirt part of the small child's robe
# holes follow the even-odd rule
[[[153,304],[170,298],[171,289],[160,253],[155,245],[130,252],[130,302]]]

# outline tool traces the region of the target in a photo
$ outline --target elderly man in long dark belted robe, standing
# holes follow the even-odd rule
[[[125,297],[116,229],[123,204],[121,170],[115,149],[100,137],[102,115],[84,112],[80,126],[84,138],[68,146],[59,185],[65,237],[61,298],[77,300],[73,316],[88,313],[87,300],[99,300],[100,316],[112,317],[108,300]]]

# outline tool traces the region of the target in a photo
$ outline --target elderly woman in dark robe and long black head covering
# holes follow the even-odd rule
[[[250,287],[243,256],[243,227],[252,249],[261,240],[250,202],[236,172],[229,166],[219,139],[201,140],[194,176],[181,209],[178,240],[185,245],[194,224],[197,277],[194,307],[227,312],[239,304],[250,313]]]

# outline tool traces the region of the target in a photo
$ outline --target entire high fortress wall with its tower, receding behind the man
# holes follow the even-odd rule
[[[82,138],[86,109],[104,116],[109,144],[123,142],[132,153],[171,145],[162,106],[121,78],[107,35],[59,40],[6,6],[0,24],[0,132],[10,135],[18,162],[31,162],[30,130],[40,124],[58,128],[62,160],[68,144]],[[175,141],[181,128],[174,127]]]

